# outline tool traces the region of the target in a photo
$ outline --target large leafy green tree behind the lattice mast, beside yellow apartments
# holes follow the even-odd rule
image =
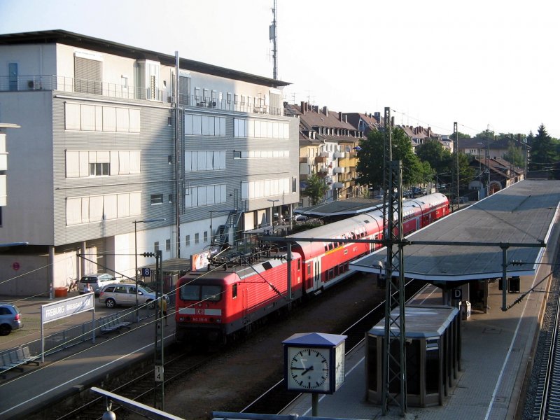
[[[393,146],[393,160],[402,161],[402,184],[414,185],[426,180],[433,174],[429,165],[424,165],[412,151],[412,144],[404,131],[393,127],[391,144]],[[360,141],[358,151],[358,182],[362,185],[381,186],[383,184],[385,133],[372,131],[367,139]]]

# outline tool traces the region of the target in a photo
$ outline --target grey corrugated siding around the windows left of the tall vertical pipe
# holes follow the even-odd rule
[[[82,95],[83,96],[83,95]],[[167,125],[169,110],[151,108],[141,102],[130,102],[141,109],[141,132],[71,132],[64,130],[64,102],[52,99],[52,148],[54,155],[55,245],[68,244],[99,237],[120,235],[134,230],[132,221],[141,218],[166,218],[151,228],[169,225],[174,221],[174,204],[168,196],[174,194],[174,165],[168,156],[174,155],[174,129]],[[72,100],[76,102],[76,100]],[[96,101],[77,101],[96,104]],[[97,102],[99,104],[99,102]],[[141,149],[141,174],[66,179],[65,151],[73,150],[138,150]],[[141,190],[141,216],[110,221],[66,226],[66,198],[88,195],[107,195]],[[163,204],[152,206],[150,196],[163,194]],[[171,221],[171,223],[170,223]],[[165,246],[165,244],[163,244]]]

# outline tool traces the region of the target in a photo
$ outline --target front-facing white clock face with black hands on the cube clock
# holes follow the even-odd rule
[[[329,391],[329,349],[288,347],[288,389]]]

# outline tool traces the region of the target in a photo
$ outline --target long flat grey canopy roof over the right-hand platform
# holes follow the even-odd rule
[[[501,277],[502,248],[488,244],[555,241],[551,232],[559,216],[559,204],[560,181],[525,180],[456,211],[407,237],[412,244],[404,247],[405,278],[441,284]],[[476,245],[414,244],[416,241]],[[539,247],[507,248],[507,275],[534,275],[544,251]],[[384,263],[385,258],[386,250],[382,248],[352,262],[350,269],[379,274],[379,263]],[[524,264],[509,264],[513,260]]]

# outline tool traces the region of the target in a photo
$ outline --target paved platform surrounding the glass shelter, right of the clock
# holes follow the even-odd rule
[[[543,266],[541,266],[543,267]],[[405,418],[421,420],[513,420],[521,419],[524,380],[531,374],[533,351],[545,306],[547,272],[521,277],[521,291],[537,285],[524,300],[502,311],[498,282],[489,285],[487,313],[472,311],[461,323],[461,371],[456,386],[443,405],[408,407]],[[417,298],[425,304],[442,304],[441,289],[431,288]],[[508,303],[519,293],[509,293]],[[345,419],[402,419],[400,409],[389,407],[384,416],[380,405],[366,400],[365,346],[346,355],[346,380],[332,395],[321,395],[318,416]],[[311,394],[302,395],[281,414],[311,416]]]

